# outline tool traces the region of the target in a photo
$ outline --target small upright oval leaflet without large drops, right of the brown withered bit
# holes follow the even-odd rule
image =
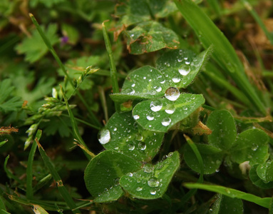
[[[234,118],[225,110],[213,111],[207,118],[207,127],[212,133],[207,136],[209,144],[223,151],[230,149],[235,143],[237,131]]]

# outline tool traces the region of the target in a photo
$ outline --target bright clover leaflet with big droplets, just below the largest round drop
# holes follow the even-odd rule
[[[133,108],[133,116],[140,126],[150,131],[167,132],[176,123],[190,116],[197,108],[205,103],[200,94],[181,93],[177,100],[157,98],[138,103]]]

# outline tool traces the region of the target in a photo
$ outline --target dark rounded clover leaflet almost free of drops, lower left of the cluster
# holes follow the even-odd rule
[[[141,163],[115,151],[103,151],[86,167],[86,188],[95,197],[95,202],[118,200],[123,195],[119,178],[126,173],[139,170]]]

